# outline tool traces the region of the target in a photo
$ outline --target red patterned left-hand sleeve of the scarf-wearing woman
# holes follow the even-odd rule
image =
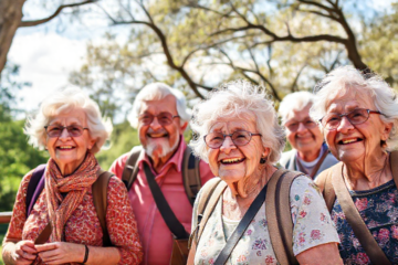
[[[20,183],[4,242],[8,240],[12,242],[18,242],[22,240],[23,226],[27,221],[27,191],[29,181],[32,178],[32,173],[33,170],[27,173]]]

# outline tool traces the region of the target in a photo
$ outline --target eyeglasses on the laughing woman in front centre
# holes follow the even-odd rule
[[[218,149],[222,146],[226,137],[231,137],[233,145],[245,146],[251,140],[252,136],[261,136],[261,134],[253,134],[247,130],[237,130],[231,135],[224,135],[222,132],[211,132],[203,137],[205,142],[212,149]]]

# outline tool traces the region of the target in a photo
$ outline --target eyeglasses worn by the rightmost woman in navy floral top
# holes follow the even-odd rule
[[[349,123],[352,125],[359,125],[359,124],[363,124],[366,120],[368,120],[370,114],[384,115],[383,113],[380,113],[378,110],[357,108],[347,114],[335,114],[335,113],[327,114],[325,117],[320,119],[320,123],[322,124],[322,126],[325,129],[334,130],[339,126],[343,117],[347,117],[347,119],[349,120]]]

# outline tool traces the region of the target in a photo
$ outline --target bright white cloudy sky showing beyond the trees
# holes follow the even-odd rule
[[[373,0],[375,10],[384,10],[394,0]],[[51,10],[51,7],[46,10]],[[45,18],[40,0],[27,1],[23,8],[25,19]],[[88,13],[88,12],[87,12]],[[45,96],[56,89],[70,86],[69,75],[78,71],[86,55],[88,41],[101,43],[106,31],[118,33],[118,40],[125,41],[128,26],[109,28],[103,14],[93,13],[83,21],[71,21],[63,14],[49,23],[20,28],[13,39],[8,60],[20,65],[19,81],[30,82],[32,86],[18,92],[17,108],[28,113],[36,109]],[[24,118],[20,114],[18,118]]]

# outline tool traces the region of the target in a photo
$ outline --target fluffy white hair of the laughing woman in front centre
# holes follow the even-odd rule
[[[190,146],[195,155],[208,162],[205,135],[209,132],[217,119],[239,118],[242,114],[254,115],[255,127],[262,135],[262,144],[271,149],[266,162],[276,162],[285,145],[284,130],[277,123],[273,103],[265,89],[248,81],[222,84],[209,93],[206,100],[201,100],[193,107],[191,127],[197,135],[190,141]]]

